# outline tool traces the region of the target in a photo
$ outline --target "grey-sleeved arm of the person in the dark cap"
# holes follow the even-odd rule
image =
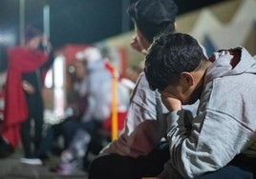
[[[131,97],[123,133],[101,153],[132,157],[148,154],[159,144],[165,132],[165,121],[157,119],[157,108],[159,114],[167,112],[160,103],[159,93],[149,89],[142,74]]]

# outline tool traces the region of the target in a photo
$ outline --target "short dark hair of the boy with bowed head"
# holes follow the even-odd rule
[[[177,85],[182,71],[200,70],[207,58],[188,34],[163,33],[146,55],[145,75],[151,89]]]

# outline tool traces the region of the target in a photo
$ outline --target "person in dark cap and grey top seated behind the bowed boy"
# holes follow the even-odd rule
[[[146,54],[153,38],[175,30],[178,8],[173,0],[139,0],[128,8],[136,30],[131,46]],[[168,145],[160,142],[165,123],[159,115],[167,112],[160,93],[148,87],[141,73],[131,99],[124,131],[92,161],[89,179],[140,179],[156,176],[169,159]]]

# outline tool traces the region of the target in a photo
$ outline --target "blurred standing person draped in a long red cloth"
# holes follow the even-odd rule
[[[21,162],[40,164],[38,159],[33,160],[33,158],[42,136],[44,112],[42,79],[53,63],[53,58],[49,58],[52,48],[47,37],[40,30],[30,26],[25,33],[25,45],[11,48],[8,52],[10,61],[2,137],[15,149],[21,136],[25,156]],[[39,49],[40,45],[42,49]],[[32,120],[33,136],[31,136]]]

